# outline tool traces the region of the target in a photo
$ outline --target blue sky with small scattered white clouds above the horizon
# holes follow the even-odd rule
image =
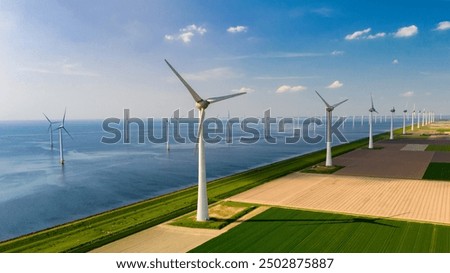
[[[0,119],[448,113],[450,1],[1,1]],[[400,113],[400,111],[398,111]]]

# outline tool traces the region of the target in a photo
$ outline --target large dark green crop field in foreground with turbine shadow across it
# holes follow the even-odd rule
[[[450,226],[270,208],[195,253],[450,252]]]

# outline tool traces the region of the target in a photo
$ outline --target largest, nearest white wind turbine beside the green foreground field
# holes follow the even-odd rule
[[[246,92],[240,92],[236,94],[231,94],[221,97],[208,98],[206,100],[202,99],[192,87],[181,77],[180,74],[175,70],[175,68],[170,65],[167,60],[164,60],[170,69],[175,73],[178,79],[187,88],[192,98],[195,101],[195,107],[199,111],[199,124],[198,124],[198,198],[197,198],[197,221],[207,221],[209,220],[208,215],[208,195],[206,191],[206,167],[205,167],[205,146],[203,143],[203,121],[205,119],[205,110],[208,108],[209,104],[218,101],[226,100],[232,97],[243,95]]]

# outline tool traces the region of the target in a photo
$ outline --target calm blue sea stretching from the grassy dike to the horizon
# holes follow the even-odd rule
[[[367,137],[367,117],[363,125],[360,120],[361,117],[357,117],[353,126],[352,118],[349,118],[344,128],[341,127],[349,141]],[[197,182],[194,143],[172,143],[171,137],[170,152],[163,143],[146,141],[138,144],[137,128],[132,126],[131,144],[103,144],[101,138],[112,135],[102,130],[100,120],[66,120],[65,126],[73,140],[64,135],[65,165],[61,166],[58,134],[54,132],[52,150],[46,120],[0,122],[0,240],[186,188]],[[401,117],[395,119],[394,126],[402,126]],[[261,124],[251,127],[262,129]],[[294,127],[298,128],[298,125]],[[292,130],[289,126],[286,128],[284,134],[272,133],[278,139],[277,144],[268,144],[263,139],[256,144],[242,144],[237,141],[239,137],[251,135],[238,130],[235,125],[234,143],[206,144],[207,179],[324,149],[324,140],[314,145],[303,140],[284,144],[284,137],[292,136]],[[374,134],[389,128],[389,117],[386,122],[384,118],[381,122],[378,119]],[[324,130],[323,125],[318,126],[316,134],[324,136]],[[155,122],[155,131],[161,131],[160,121]],[[182,131],[186,136],[184,133]],[[338,144],[334,138],[333,145]]]

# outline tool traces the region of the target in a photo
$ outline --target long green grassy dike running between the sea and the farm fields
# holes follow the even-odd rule
[[[396,134],[400,134],[400,129]],[[386,139],[388,133],[374,137]],[[367,145],[366,138],[333,147],[337,156]],[[208,183],[212,204],[250,188],[318,164],[324,150],[237,173]],[[124,206],[0,243],[0,252],[86,252],[196,209],[197,187]]]

